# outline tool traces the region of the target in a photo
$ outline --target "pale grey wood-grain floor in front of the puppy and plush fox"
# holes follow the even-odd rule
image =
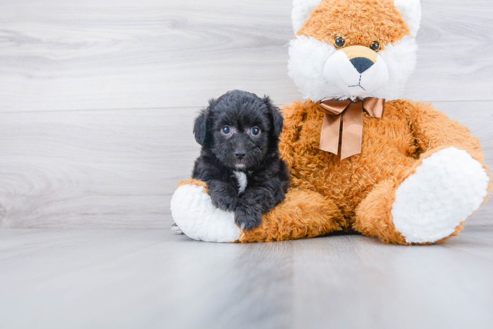
[[[215,244],[170,230],[0,230],[6,328],[489,328],[493,230]]]

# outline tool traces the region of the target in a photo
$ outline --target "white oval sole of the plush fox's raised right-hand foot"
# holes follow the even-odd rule
[[[455,147],[423,160],[395,192],[392,220],[407,243],[436,242],[476,211],[487,194],[482,164]]]

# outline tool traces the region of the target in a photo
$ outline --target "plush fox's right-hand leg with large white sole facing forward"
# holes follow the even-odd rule
[[[414,166],[377,184],[356,209],[353,228],[397,244],[456,236],[488,194],[486,168],[455,147],[431,150]]]

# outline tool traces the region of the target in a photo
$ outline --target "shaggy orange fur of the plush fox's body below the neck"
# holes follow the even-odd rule
[[[283,110],[280,150],[289,164],[293,189],[284,203],[264,215],[261,227],[241,234],[241,242],[354,230],[407,244],[390,213],[400,183],[422,159],[446,147],[466,150],[483,161],[479,141],[467,128],[423,102],[387,102],[381,119],[365,113],[361,154],[342,161],[318,149],[323,112],[317,103],[296,101]],[[452,236],[461,229],[462,224]]]

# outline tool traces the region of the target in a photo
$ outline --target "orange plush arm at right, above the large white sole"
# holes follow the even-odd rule
[[[456,147],[483,163],[479,139],[472,136],[467,127],[451,120],[429,103],[403,101],[402,106],[418,146],[418,155],[437,148]]]

